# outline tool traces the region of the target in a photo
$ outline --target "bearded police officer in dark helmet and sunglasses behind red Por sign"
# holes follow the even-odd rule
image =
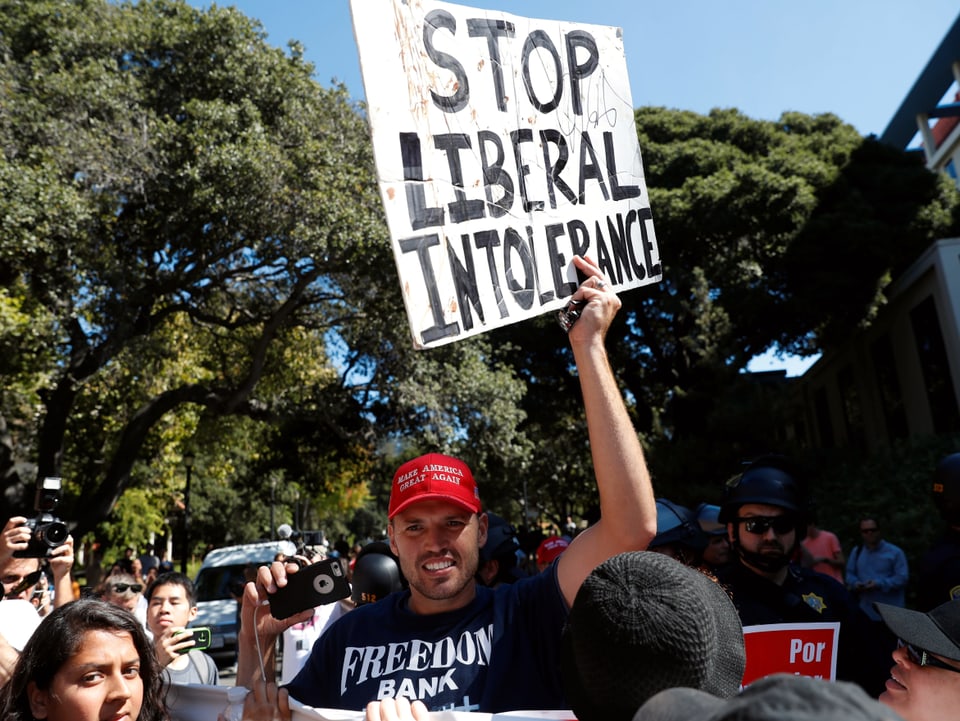
[[[888,673],[867,617],[835,579],[791,563],[806,535],[807,491],[799,468],[783,456],[753,461],[724,489],[733,560],[717,577],[744,626],[840,622],[837,678],[876,696]]]

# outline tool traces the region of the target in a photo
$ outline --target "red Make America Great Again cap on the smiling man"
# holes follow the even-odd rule
[[[413,503],[429,500],[450,501],[480,513],[480,491],[470,467],[459,458],[442,453],[428,453],[397,469],[387,517],[393,518]]]

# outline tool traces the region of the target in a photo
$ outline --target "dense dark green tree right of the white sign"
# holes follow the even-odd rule
[[[869,323],[890,279],[954,231],[957,193],[832,115],[642,108],[636,120],[664,279],[624,294],[612,347],[649,409],[661,492],[682,494],[788,450],[772,431],[789,416],[740,372],[770,347],[815,353]]]

